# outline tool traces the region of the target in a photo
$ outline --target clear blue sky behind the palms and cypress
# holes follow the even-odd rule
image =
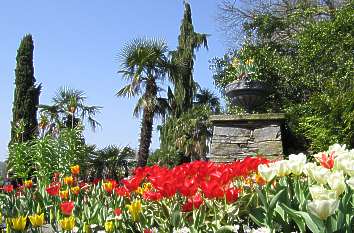
[[[225,51],[217,30],[217,0],[191,0],[195,30],[208,33],[209,50],[197,53],[195,79],[214,89],[208,61]],[[16,51],[31,33],[35,42],[35,77],[47,104],[61,86],[86,92],[88,104],[102,106],[102,130],[85,131],[88,143],[137,147],[140,120],[132,116],[135,100],[118,99],[125,83],[117,74],[117,55],[136,37],[164,38],[175,49],[183,16],[182,0],[2,1],[0,3],[0,159],[7,156]],[[217,91],[215,90],[215,93]],[[156,129],[156,127],[154,127]],[[152,148],[158,147],[158,134]]]

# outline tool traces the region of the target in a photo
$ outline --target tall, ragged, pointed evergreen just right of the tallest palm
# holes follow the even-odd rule
[[[179,116],[193,107],[193,97],[196,83],[193,79],[195,50],[202,45],[208,47],[207,35],[194,31],[192,12],[189,3],[184,3],[184,16],[178,36],[178,47],[172,52],[172,61],[183,64],[183,68],[172,74],[176,109],[174,114]]]

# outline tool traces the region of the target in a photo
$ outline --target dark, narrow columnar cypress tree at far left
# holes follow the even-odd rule
[[[41,85],[35,84],[33,50],[32,36],[30,34],[25,35],[16,56],[10,144],[31,140],[37,134],[37,110]],[[20,123],[22,128],[19,134],[16,129]]]

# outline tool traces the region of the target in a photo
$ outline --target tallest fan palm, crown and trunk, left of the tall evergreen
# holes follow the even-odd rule
[[[119,73],[129,84],[119,90],[117,96],[139,96],[134,115],[138,116],[142,112],[139,167],[145,166],[149,157],[153,120],[158,115],[164,116],[168,106],[165,98],[158,97],[162,90],[158,82],[166,78],[171,68],[167,52],[163,40],[135,39],[125,45],[120,54],[122,63]]]

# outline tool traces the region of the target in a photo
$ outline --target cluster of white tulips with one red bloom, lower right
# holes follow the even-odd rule
[[[250,214],[258,225],[269,232],[353,232],[354,150],[336,144],[258,171],[267,181],[257,189],[261,205]]]

